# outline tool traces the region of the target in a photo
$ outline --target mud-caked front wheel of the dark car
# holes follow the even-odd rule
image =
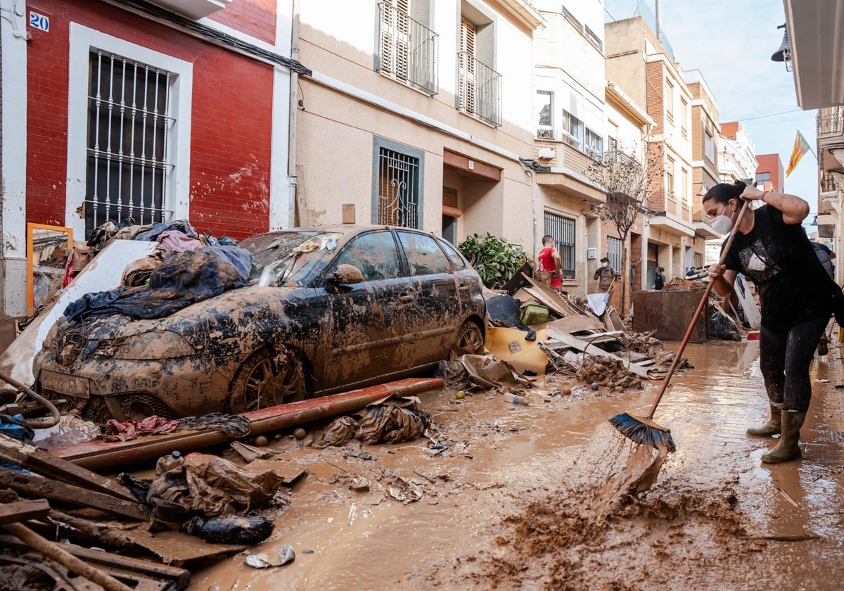
[[[230,413],[265,409],[268,406],[307,398],[305,362],[293,349],[262,349],[252,354],[231,381]]]

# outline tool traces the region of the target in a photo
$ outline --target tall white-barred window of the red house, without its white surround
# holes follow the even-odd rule
[[[108,220],[165,219],[170,72],[109,52],[89,54],[85,234]]]

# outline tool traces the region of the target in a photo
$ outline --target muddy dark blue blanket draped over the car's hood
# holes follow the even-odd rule
[[[252,253],[241,247],[204,247],[178,252],[149,275],[149,285],[85,294],[64,311],[68,322],[93,314],[161,318],[246,285]]]

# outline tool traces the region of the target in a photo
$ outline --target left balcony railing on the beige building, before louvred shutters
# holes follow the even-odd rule
[[[378,17],[376,71],[436,95],[439,35],[387,3],[378,4]]]

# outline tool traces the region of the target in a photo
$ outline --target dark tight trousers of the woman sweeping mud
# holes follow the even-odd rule
[[[795,412],[809,410],[812,399],[809,364],[827,323],[828,318],[818,318],[788,330],[762,327],[759,367],[771,405]]]

